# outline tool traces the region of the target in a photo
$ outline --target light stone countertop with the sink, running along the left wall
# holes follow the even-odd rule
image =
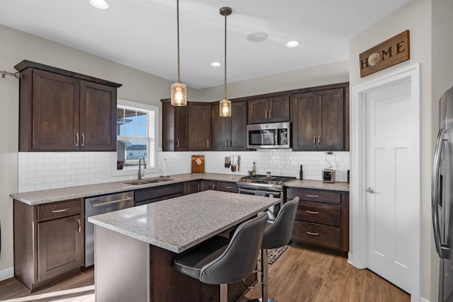
[[[243,175],[230,175],[230,174],[217,174],[217,173],[187,173],[170,175],[168,178],[172,180],[166,182],[157,182],[153,184],[144,185],[127,185],[125,182],[130,180],[123,180],[120,182],[105,182],[97,185],[81,185],[78,187],[64,187],[61,189],[41,190],[34,192],[14,193],[9,196],[17,199],[25,204],[46,204],[48,202],[59,202],[62,200],[93,197],[103,194],[112,194],[117,192],[127,192],[145,187],[158,187],[161,185],[170,185],[172,183],[186,182],[190,180],[223,180],[236,182]]]

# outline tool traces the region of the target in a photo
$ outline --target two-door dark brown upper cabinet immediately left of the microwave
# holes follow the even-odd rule
[[[232,102],[231,117],[219,116],[219,102],[212,103],[212,150],[247,149],[247,102]]]

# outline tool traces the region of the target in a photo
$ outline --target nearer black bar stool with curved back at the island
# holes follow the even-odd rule
[[[248,277],[256,267],[267,219],[268,214],[261,214],[241,223],[231,240],[214,236],[184,252],[174,260],[176,270],[206,284],[220,284],[220,301],[227,302],[228,284]]]

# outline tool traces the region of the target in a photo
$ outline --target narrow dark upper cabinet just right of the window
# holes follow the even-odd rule
[[[189,151],[188,106],[176,107],[171,100],[162,102],[162,150]]]

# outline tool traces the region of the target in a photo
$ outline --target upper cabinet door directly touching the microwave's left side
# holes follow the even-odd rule
[[[231,136],[229,149],[241,151],[247,149],[247,102],[231,104]]]

